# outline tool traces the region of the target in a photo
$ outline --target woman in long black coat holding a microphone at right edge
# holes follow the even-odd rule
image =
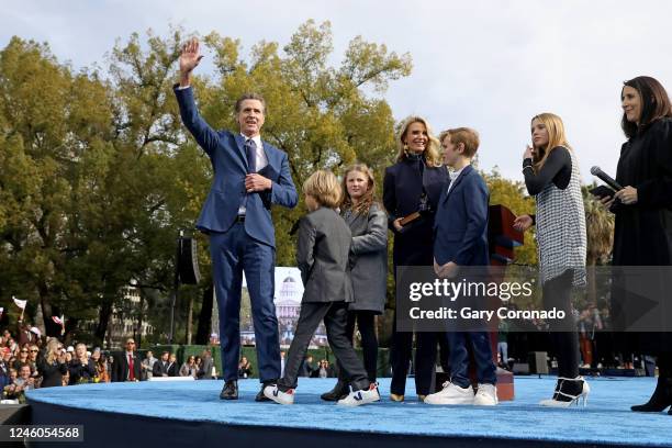
[[[618,159],[616,181],[625,186],[614,201],[603,202],[615,213],[614,266],[670,266],[672,264],[672,103],[661,83],[647,76],[626,81],[621,93],[621,127],[628,141]],[[664,272],[658,276],[658,300],[665,299]],[[623,272],[621,272],[623,273]],[[626,272],[627,273],[627,272]],[[658,385],[648,403],[632,406],[637,412],[660,412],[672,405],[671,333],[624,333],[625,322],[641,298],[623,288],[625,276],[614,278],[613,320],[620,334],[619,345],[657,356]],[[649,282],[650,283],[650,282]],[[664,309],[664,307],[661,307]],[[630,310],[630,312],[628,312]],[[669,317],[669,316],[668,316]],[[661,313],[661,325],[669,325]],[[627,337],[623,337],[627,336]],[[672,411],[670,412],[672,414]]]

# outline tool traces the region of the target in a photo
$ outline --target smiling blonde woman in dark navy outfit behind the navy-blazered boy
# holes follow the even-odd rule
[[[441,191],[448,188],[448,169],[441,164],[439,142],[432,135],[429,124],[421,116],[410,116],[396,135],[396,164],[385,169],[383,205],[388,211],[388,226],[394,234],[394,276],[396,267],[434,264],[434,213]],[[419,213],[406,225],[402,220]],[[415,389],[424,400],[430,391],[437,337],[435,333],[416,334]],[[413,333],[396,331],[396,315],[392,335],[390,361],[392,383],[390,399],[403,401],[406,374],[413,350]]]

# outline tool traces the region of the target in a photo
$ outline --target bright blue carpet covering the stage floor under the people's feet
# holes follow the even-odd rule
[[[222,424],[320,428],[450,437],[552,440],[625,446],[672,446],[672,416],[637,414],[631,404],[653,391],[651,378],[592,379],[586,408],[541,408],[553,378],[516,377],[516,399],[496,407],[430,406],[417,402],[408,379],[403,403],[388,397],[389,379],[380,381],[380,403],[347,408],[325,403],[320,394],[334,379],[301,379],[293,406],[255,403],[256,380],[239,381],[240,400],[219,399],[222,381],[85,384],[31,391],[31,402],[90,411]]]

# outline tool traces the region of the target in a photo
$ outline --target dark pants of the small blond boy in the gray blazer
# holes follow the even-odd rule
[[[282,392],[296,388],[296,378],[315,329],[324,320],[329,347],[343,370],[344,378],[352,390],[367,389],[370,384],[367,372],[348,339],[348,305],[345,302],[302,303],[294,339],[284,361],[284,376],[278,381]],[[350,333],[351,334],[351,333]]]

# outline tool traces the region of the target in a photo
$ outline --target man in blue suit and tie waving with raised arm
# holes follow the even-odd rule
[[[191,72],[202,56],[192,38],[180,55],[180,82],[175,94],[184,126],[210,157],[212,188],[197,227],[210,235],[210,254],[220,312],[224,389],[222,400],[238,399],[240,288],[247,279],[261,391],[280,378],[280,343],[273,305],[276,237],[272,204],[294,208],[298,201],[287,154],[262,142],[266,103],[256,93],[236,101],[238,133],[214,131],[199,114]],[[257,401],[267,401],[259,392]]]

